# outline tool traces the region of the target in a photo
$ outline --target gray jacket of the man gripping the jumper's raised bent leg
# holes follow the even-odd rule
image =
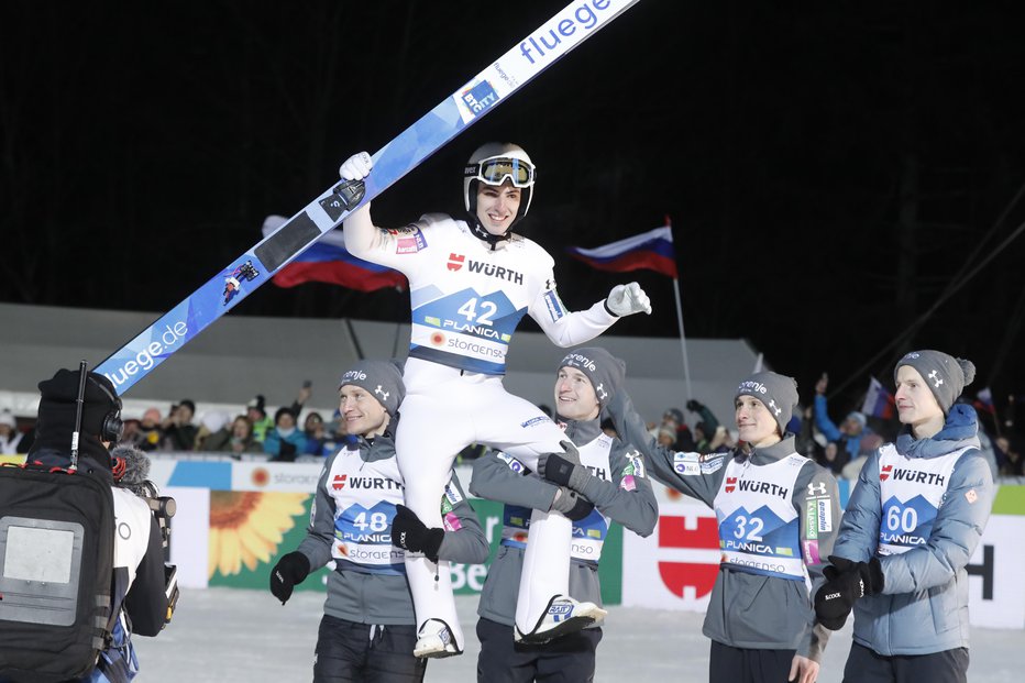
[[[582,451],[602,438],[598,420],[567,422],[565,433]],[[659,505],[640,458],[636,450],[627,448],[618,439],[613,440],[608,451],[608,478],[592,477],[581,493],[609,519],[635,533],[648,536],[659,519]],[[625,477],[631,478],[624,482]],[[488,451],[474,462],[473,478],[470,481],[470,493],[475,496],[498,500],[507,506],[539,510],[551,508],[558,488],[555,484],[525,470],[519,461],[499,455],[496,451]],[[505,511],[503,518],[506,518]],[[514,546],[503,544],[498,548],[481,593],[477,606],[481,617],[506,626],[514,625],[525,552],[522,548]],[[566,552],[570,552],[569,548]],[[577,601],[602,604],[597,561],[572,560],[570,595]]]

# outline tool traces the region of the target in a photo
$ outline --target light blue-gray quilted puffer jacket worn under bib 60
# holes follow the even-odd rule
[[[914,461],[954,456],[943,502],[924,544],[880,558],[883,591],[855,604],[855,640],[879,654],[928,654],[968,647],[968,573],[965,566],[982,538],[995,487],[989,465],[978,451],[976,411],[956,405],[939,433],[915,439],[897,437],[896,452],[908,470]],[[888,444],[889,445],[889,444]],[[869,455],[847,503],[834,554],[866,562],[878,554],[882,526],[880,453]]]

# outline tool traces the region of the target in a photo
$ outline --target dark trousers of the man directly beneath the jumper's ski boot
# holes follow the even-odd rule
[[[512,640],[511,626],[481,619],[477,639],[477,683],[591,683],[602,629],[585,628],[541,646],[525,646]]]

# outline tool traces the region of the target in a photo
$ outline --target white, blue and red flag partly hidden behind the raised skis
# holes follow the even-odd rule
[[[286,220],[283,216],[268,216],[263,223],[267,236]],[[406,276],[398,271],[356,258],[345,249],[341,231],[331,231],[313,242],[305,252],[283,266],[273,278],[278,287],[295,287],[302,283],[328,283],[360,291],[385,287],[406,288]]]

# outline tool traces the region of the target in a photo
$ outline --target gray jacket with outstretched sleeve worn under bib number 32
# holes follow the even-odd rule
[[[677,454],[658,444],[626,392],[617,392],[606,410],[621,437],[647,456],[652,477],[709,507],[714,507],[729,461],[743,459],[749,466],[758,467],[794,453],[794,436],[787,433],[781,442],[750,453],[738,449],[701,456]],[[677,460],[691,466],[681,466],[683,472],[677,472]],[[825,582],[822,570],[839,528],[836,478],[808,460],[797,474],[791,502],[801,520],[800,542],[808,581],[765,576],[720,564],[702,632],[735,648],[796,650],[802,657],[820,661],[829,631],[815,624],[811,596]],[[823,504],[829,513],[813,515],[812,510],[822,509]]]

